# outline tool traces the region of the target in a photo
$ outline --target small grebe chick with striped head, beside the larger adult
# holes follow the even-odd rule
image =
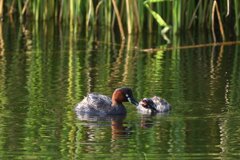
[[[137,109],[144,113],[163,113],[171,110],[171,105],[163,98],[154,96],[152,98],[143,98]]]

